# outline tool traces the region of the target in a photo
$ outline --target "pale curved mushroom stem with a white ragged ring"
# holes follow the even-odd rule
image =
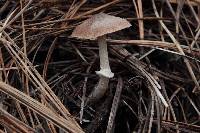
[[[97,40],[99,45],[100,71],[96,71],[96,74],[99,75],[100,79],[94,91],[89,96],[89,98],[92,100],[97,100],[103,97],[108,89],[109,79],[114,76],[114,73],[112,73],[110,70],[108,60],[106,35],[98,37]]]

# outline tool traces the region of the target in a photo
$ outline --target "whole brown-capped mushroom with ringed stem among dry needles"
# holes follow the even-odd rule
[[[130,27],[131,24],[122,18],[99,13],[78,25],[72,37],[79,39],[97,39],[99,45],[100,71],[96,71],[100,79],[89,99],[100,99],[108,89],[109,79],[114,76],[109,65],[106,34]]]

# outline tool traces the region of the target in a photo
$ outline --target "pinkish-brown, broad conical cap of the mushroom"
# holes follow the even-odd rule
[[[96,39],[99,36],[116,32],[130,26],[131,24],[126,19],[99,13],[78,25],[71,36],[80,39]]]

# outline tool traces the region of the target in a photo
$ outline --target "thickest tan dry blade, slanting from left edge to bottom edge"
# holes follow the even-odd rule
[[[72,133],[83,133],[82,129],[77,127],[73,121],[63,119],[62,117],[55,114],[53,111],[51,111],[49,108],[47,108],[43,104],[39,103],[38,101],[34,100],[28,95],[18,91],[12,86],[5,84],[3,82],[0,82],[0,90],[8,94],[9,96],[13,97],[14,99],[18,100],[23,105],[34,110],[35,112],[45,117],[46,119],[52,121],[55,125],[59,126],[60,128],[63,128],[64,130],[70,131]]]

